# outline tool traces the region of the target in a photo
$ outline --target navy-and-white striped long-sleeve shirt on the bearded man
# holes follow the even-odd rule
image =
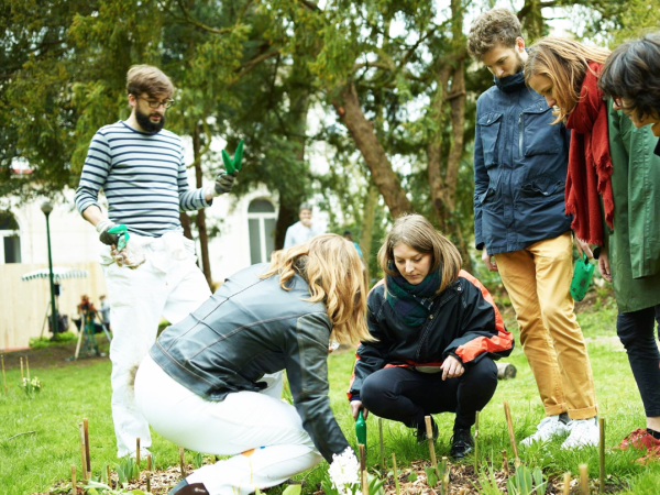
[[[80,213],[99,206],[101,188],[110,220],[141,235],[180,231],[179,211],[211,205],[202,189],[188,187],[179,136],[140,132],[122,121],[99,129],[91,140],[76,190]]]

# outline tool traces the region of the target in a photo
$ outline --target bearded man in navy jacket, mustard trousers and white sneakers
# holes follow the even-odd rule
[[[569,292],[569,131],[551,125],[553,100],[525,86],[527,53],[515,14],[493,9],[480,15],[468,50],[495,76],[495,86],[476,103],[475,244],[488,270],[502,276],[546,409],[537,431],[522,443],[570,432],[563,448],[595,446],[594,382]]]

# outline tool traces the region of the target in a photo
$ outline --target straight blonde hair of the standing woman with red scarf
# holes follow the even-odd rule
[[[534,76],[546,76],[552,81],[552,97],[559,108],[554,111],[557,119],[552,123],[556,124],[565,121],[575,110],[586,72],[598,76],[588,63],[604,64],[608,56],[607,48],[587,46],[566,37],[546,36],[529,47],[525,82],[529,85],[529,78]]]

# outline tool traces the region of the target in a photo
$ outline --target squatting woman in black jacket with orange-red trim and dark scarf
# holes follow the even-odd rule
[[[476,411],[493,397],[497,367],[514,338],[488,292],[461,271],[457,248],[419,215],[400,217],[378,252],[385,279],[367,298],[373,338],[358,349],[349,399],[353,417],[364,409],[417,429],[425,416],[455,414],[451,455],[465,457]],[[432,420],[433,439],[438,427]]]

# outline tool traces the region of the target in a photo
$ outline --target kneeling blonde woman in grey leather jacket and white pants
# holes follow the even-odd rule
[[[233,455],[202,466],[170,494],[267,488],[349,443],[328,398],[331,339],[369,339],[362,263],[334,234],[275,253],[227,279],[169,327],[135,378],[151,427],[178,446]],[[280,400],[286,370],[294,406]]]

